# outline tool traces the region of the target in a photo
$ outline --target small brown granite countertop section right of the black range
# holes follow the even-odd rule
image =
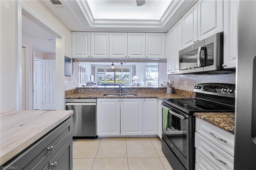
[[[235,132],[235,113],[230,112],[212,112],[212,113],[194,113],[194,116],[207,121],[229,133]]]

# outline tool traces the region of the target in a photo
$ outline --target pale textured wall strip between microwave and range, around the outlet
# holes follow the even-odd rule
[[[174,81],[175,89],[194,91],[194,86],[197,83],[236,83],[236,73],[216,74],[216,75],[195,75],[195,74],[180,74],[169,75],[169,79]],[[188,81],[188,87],[184,87],[184,81]]]

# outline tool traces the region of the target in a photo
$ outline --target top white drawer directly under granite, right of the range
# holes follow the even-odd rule
[[[202,119],[196,118],[196,132],[234,156],[234,135]],[[222,141],[221,139],[225,140]]]

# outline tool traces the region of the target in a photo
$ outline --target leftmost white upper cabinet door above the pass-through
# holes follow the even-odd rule
[[[90,32],[72,32],[72,58],[90,57]]]

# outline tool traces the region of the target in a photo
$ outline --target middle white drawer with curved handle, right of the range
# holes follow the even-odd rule
[[[195,132],[195,147],[220,169],[233,169],[234,157]],[[204,168],[202,168],[204,169]]]

